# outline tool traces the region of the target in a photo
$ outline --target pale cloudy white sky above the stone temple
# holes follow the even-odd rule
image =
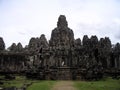
[[[65,15],[74,37],[97,35],[120,42],[120,0],[0,0],[0,37],[6,47],[45,34],[50,40],[59,15]]]

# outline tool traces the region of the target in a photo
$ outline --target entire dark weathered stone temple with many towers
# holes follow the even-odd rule
[[[13,43],[7,50],[0,37],[0,74],[22,74],[51,80],[97,80],[120,75],[120,43],[108,37],[87,35],[75,39],[64,15],[47,41],[44,34],[32,37],[25,48]]]

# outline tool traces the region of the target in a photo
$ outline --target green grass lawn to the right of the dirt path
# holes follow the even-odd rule
[[[120,90],[120,80],[75,81],[74,86],[77,90]]]

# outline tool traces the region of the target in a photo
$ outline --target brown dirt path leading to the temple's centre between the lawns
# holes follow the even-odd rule
[[[58,81],[52,88],[52,90],[75,90],[72,81]]]

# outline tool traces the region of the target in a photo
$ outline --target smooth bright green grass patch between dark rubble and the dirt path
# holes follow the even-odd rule
[[[27,90],[50,90],[56,81],[37,81],[28,87]]]

